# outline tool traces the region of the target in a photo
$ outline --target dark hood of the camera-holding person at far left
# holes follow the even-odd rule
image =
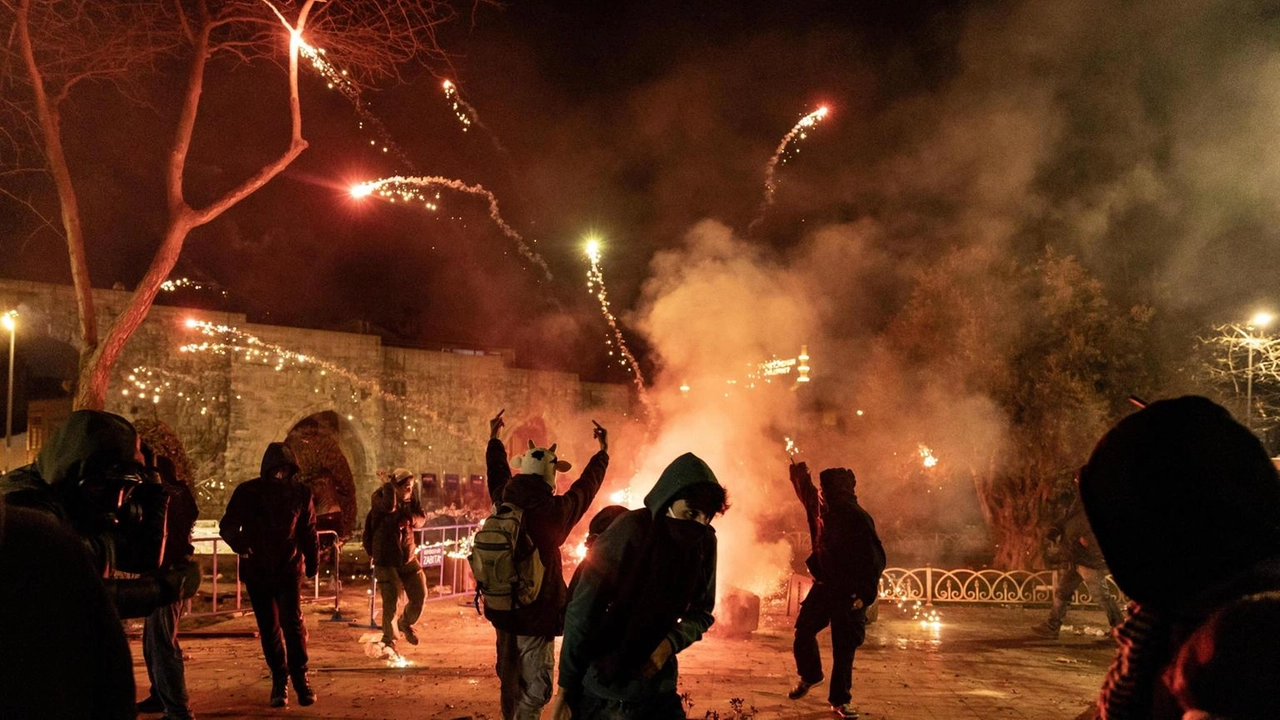
[[[141,469],[141,465],[133,424],[101,410],[72,413],[36,459],[41,479],[60,489],[113,468]]]

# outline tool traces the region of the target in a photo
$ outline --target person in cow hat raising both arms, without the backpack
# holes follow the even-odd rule
[[[489,420],[489,446],[485,464],[489,469],[489,497],[494,505],[509,502],[524,510],[524,528],[538,548],[543,562],[543,582],[538,597],[525,607],[499,611],[485,606],[485,618],[493,623],[498,635],[498,680],[502,685],[502,716],[504,720],[536,720],[552,697],[552,669],[556,662],[556,637],[563,633],[564,569],[561,564],[561,546],[573,525],[582,519],[604,483],[609,466],[608,430],[593,420],[591,436],[600,450],[591,456],[582,475],[563,495],[556,495],[556,473],[568,470],[568,464],[557,461],[556,446],[550,454],[531,448],[541,457],[532,462],[529,455],[521,460],[521,473],[511,474],[507,450],[498,439],[504,425],[503,411]],[[559,465],[558,465],[559,464]],[[527,473],[530,468],[541,471]]]

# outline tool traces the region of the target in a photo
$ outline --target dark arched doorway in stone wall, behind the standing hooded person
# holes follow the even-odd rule
[[[353,466],[365,465],[349,423],[333,410],[315,413],[293,425],[284,443],[298,460],[298,478],[311,487],[321,527],[349,537],[360,520]]]

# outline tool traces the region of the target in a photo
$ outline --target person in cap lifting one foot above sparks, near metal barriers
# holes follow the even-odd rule
[[[371,555],[374,559],[374,578],[383,596],[383,644],[396,647],[396,605],[399,602],[401,588],[408,602],[399,619],[399,629],[410,644],[417,644],[413,623],[422,615],[422,601],[426,598],[426,575],[417,564],[416,528],[426,523],[413,492],[413,473],[397,468],[390,478],[370,500],[369,519]]]

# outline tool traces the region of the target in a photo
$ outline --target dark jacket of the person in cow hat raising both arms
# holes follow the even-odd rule
[[[494,503],[511,502],[524,510],[525,532],[538,547],[545,569],[534,602],[509,611],[486,607],[485,618],[494,628],[517,635],[559,635],[564,632],[564,601],[568,594],[561,546],[600,491],[604,471],[609,468],[609,455],[603,450],[593,455],[582,474],[563,495],[552,492],[541,475],[512,475],[507,450],[497,438],[490,439],[485,448],[485,462],[489,469],[490,500]]]

